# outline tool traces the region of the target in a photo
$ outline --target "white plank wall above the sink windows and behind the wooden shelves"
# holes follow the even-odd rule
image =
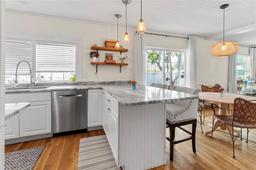
[[[67,34],[82,37],[82,73],[88,73],[87,78],[82,78],[82,81],[117,81],[117,80],[131,80],[134,76],[133,65],[133,40],[135,31],[127,29],[130,36],[130,43],[122,43],[125,28],[118,29],[118,40],[123,48],[128,48],[129,51],[125,54],[128,59],[125,63],[128,66],[122,66],[120,72],[119,66],[98,65],[98,78],[95,76],[96,65],[91,65],[92,59],[90,58],[91,46],[97,43],[98,46],[104,46],[105,40],[117,39],[117,27],[101,24],[86,23],[78,20],[67,20],[62,18],[52,18],[46,16],[22,14],[14,12],[6,12],[6,29],[8,30],[28,30],[34,32],[50,32],[55,34]],[[8,35],[6,35],[8,37]],[[49,40],[50,41],[50,40]],[[114,51],[99,51],[99,62],[103,62],[105,53],[113,53],[113,59],[120,63],[120,52]]]

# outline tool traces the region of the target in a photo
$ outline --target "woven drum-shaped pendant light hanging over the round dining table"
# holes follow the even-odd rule
[[[220,9],[224,10],[223,14],[223,42],[216,43],[211,46],[211,55],[217,57],[227,57],[238,52],[238,43],[225,42],[224,41],[224,25],[225,25],[225,8],[228,8],[228,4],[220,6]]]

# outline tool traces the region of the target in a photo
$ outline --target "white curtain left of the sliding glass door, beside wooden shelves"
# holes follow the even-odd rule
[[[134,38],[134,80],[145,85],[145,43],[144,34],[136,34]]]

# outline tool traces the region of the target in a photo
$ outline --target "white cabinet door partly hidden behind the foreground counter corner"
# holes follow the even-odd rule
[[[22,111],[24,112],[24,111]],[[4,139],[13,139],[20,137],[20,113],[5,121],[5,137]]]

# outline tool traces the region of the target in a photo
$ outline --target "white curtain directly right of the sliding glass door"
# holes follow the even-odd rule
[[[196,37],[191,36],[186,45],[186,87],[196,87]]]

